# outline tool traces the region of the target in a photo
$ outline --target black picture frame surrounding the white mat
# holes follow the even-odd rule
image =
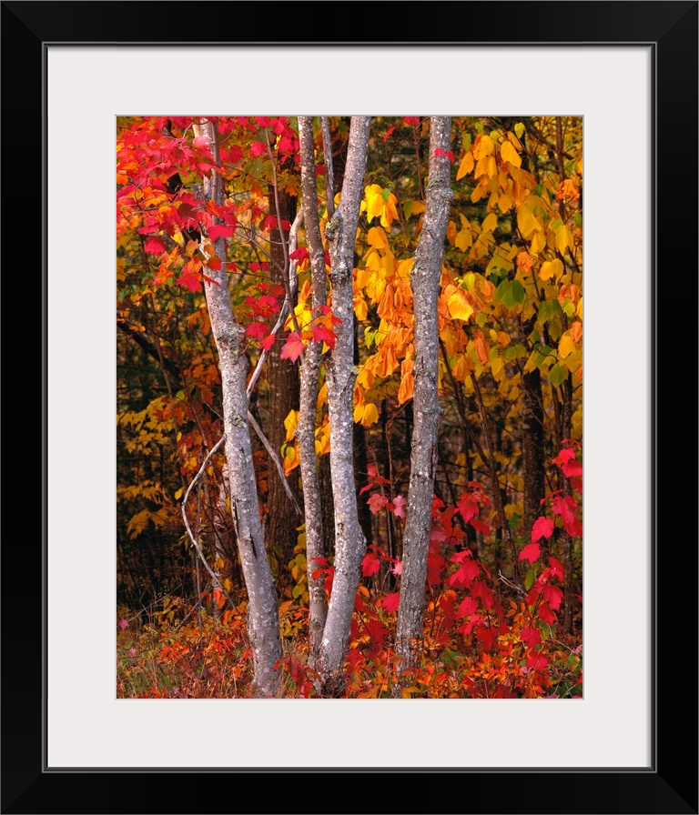
[[[281,4],[264,6],[278,8]],[[217,38],[230,32],[230,42],[274,44],[269,40],[263,6],[242,3],[74,3],[3,2],[2,106],[3,215],[5,222],[5,304],[17,303],[27,277],[46,293],[46,196],[36,203],[36,190],[46,189],[39,156],[46,156],[46,48],[51,43],[178,44],[189,33]],[[287,4],[287,9],[298,8]],[[46,444],[37,457],[23,448],[12,456],[10,486],[5,487],[5,523],[13,533],[2,547],[2,812],[198,812],[198,811],[381,811],[381,812],[584,812],[696,813],[699,811],[697,755],[697,536],[695,525],[696,411],[695,382],[690,370],[696,349],[697,312],[697,2],[533,2],[430,3],[403,6],[373,3],[336,6],[343,9],[339,36],[328,44],[374,43],[375,32],[395,30],[394,15],[412,14],[420,32],[414,45],[475,44],[469,32],[492,35],[489,45],[624,45],[653,46],[654,68],[654,221],[653,236],[653,739],[651,767],[643,770],[570,768],[505,770],[311,770],[312,780],[293,780],[302,770],[46,770],[46,605],[39,600],[37,572],[46,566]],[[361,12],[370,9],[370,24]],[[292,14],[289,11],[289,14]],[[327,7],[318,11],[329,25]],[[444,24],[449,15],[449,25]],[[293,15],[292,15],[293,16]],[[212,25],[208,21],[216,20]],[[354,22],[352,23],[351,20]],[[419,25],[416,22],[419,20]],[[461,25],[456,25],[461,21]],[[506,24],[505,24],[506,21]],[[319,29],[316,29],[316,31]],[[462,35],[458,39],[445,33]],[[289,36],[289,31],[286,32]],[[351,38],[351,41],[350,41]],[[300,37],[299,37],[300,40]],[[218,39],[220,42],[221,40]],[[228,40],[223,40],[224,42]],[[396,41],[399,42],[398,40]],[[402,42],[402,40],[400,41]],[[206,43],[204,43],[206,44]],[[304,38],[304,45],[310,45]],[[378,43],[377,43],[378,44]],[[386,45],[385,40],[380,44]],[[322,70],[322,66],[319,66]],[[618,135],[620,164],[623,140]],[[19,144],[18,144],[19,139]],[[20,160],[24,156],[25,160]],[[623,173],[610,179],[622,184]],[[79,183],[79,179],[76,179]],[[27,216],[24,213],[31,213]],[[39,221],[44,250],[39,250]],[[27,229],[27,224],[31,228]],[[24,225],[24,226],[22,226]],[[25,229],[27,230],[25,232]],[[33,232],[32,232],[33,230]],[[25,232],[26,242],[18,240]],[[19,235],[18,235],[19,234]],[[33,236],[32,236],[33,235]],[[30,237],[32,236],[32,237]],[[76,225],[79,240],[79,225]],[[22,251],[18,254],[18,247]],[[40,260],[41,258],[41,260]],[[43,261],[43,264],[42,264]],[[41,267],[43,266],[43,275]],[[24,279],[23,279],[24,278]],[[15,288],[16,287],[16,288]],[[690,313],[687,313],[690,312]],[[6,310],[6,316],[9,311]],[[11,337],[5,353],[5,382],[17,402],[25,404],[19,383],[42,383],[41,435],[46,436],[46,339],[34,325],[8,321]],[[43,307],[46,327],[46,298]],[[30,340],[30,336],[32,341]],[[34,344],[34,347],[33,347]],[[36,347],[38,346],[38,347]],[[8,347],[7,340],[5,348]],[[21,347],[21,352],[19,348]],[[28,349],[32,348],[29,355]],[[41,357],[42,374],[36,360]],[[689,365],[687,365],[689,362]],[[5,390],[7,393],[7,389]],[[663,399],[660,397],[664,396]],[[36,401],[33,403],[35,408]],[[5,401],[7,405],[7,401]],[[32,415],[37,416],[32,410]],[[10,410],[10,415],[13,412]],[[16,430],[25,414],[17,411]],[[36,421],[39,418],[37,416]],[[15,428],[13,428],[13,433]],[[34,428],[28,438],[38,438]],[[45,439],[46,441],[46,439]],[[629,441],[628,443],[633,443]],[[674,456],[672,455],[674,453]],[[623,478],[623,460],[619,461]],[[37,517],[42,487],[43,518]],[[6,484],[6,482],[5,482]],[[690,494],[690,485],[694,488]],[[662,489],[661,489],[662,487]],[[15,500],[9,503],[7,491]],[[622,508],[620,511],[633,511]],[[7,520],[12,514],[15,523]],[[15,537],[16,536],[16,537]],[[661,565],[662,564],[662,565]],[[623,629],[633,626],[633,587],[628,616],[611,622],[623,649]],[[42,598],[46,598],[46,569]],[[79,636],[76,634],[76,636]],[[633,654],[628,655],[633,681]],[[79,669],[79,661],[76,663]],[[439,725],[436,726],[439,728]],[[390,734],[386,734],[390,740]],[[521,738],[516,734],[512,738]],[[552,750],[565,750],[570,733],[552,739]],[[600,739],[604,734],[600,734]],[[560,739],[560,740],[559,740]],[[279,750],[302,750],[298,737],[279,734]],[[397,748],[398,749],[398,748]],[[523,745],[525,749],[525,745]],[[190,774],[191,772],[191,774]],[[232,772],[217,779],[210,772]],[[384,778],[377,785],[370,774]],[[146,773],[147,783],[137,776]],[[274,786],[257,778],[274,776]],[[433,774],[437,773],[437,777]],[[170,778],[172,774],[177,779]],[[358,779],[357,775],[364,776]],[[395,775],[395,778],[389,776]],[[402,777],[407,775],[408,778]],[[461,778],[456,778],[461,775]],[[529,776],[529,777],[527,777]],[[360,781],[369,780],[364,784]],[[268,791],[264,798],[252,790]],[[223,783],[222,783],[223,782]],[[300,783],[299,783],[300,782]],[[312,794],[309,794],[312,790]],[[372,790],[372,791],[370,791]],[[377,791],[379,790],[379,791]],[[258,792],[259,796],[260,793]]]

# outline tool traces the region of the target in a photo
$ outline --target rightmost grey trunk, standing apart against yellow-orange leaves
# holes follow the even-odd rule
[[[425,579],[430,543],[434,471],[437,464],[437,428],[441,408],[437,394],[439,336],[437,297],[440,289],[441,258],[451,205],[451,164],[438,150],[449,150],[451,117],[430,120],[430,176],[425,216],[415,260],[410,272],[415,316],[414,426],[410,454],[410,487],[403,537],[403,570],[396,629],[396,653],[405,661],[401,669],[414,665],[422,640],[425,609]]]

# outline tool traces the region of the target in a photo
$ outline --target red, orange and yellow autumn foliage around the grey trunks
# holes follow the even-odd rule
[[[342,321],[314,307],[300,211],[299,126],[283,116],[123,117],[117,131],[117,687],[148,698],[252,695],[248,593],[224,448],[221,377],[204,287],[228,277],[249,362],[258,512],[284,474],[302,510],[298,395],[275,387],[319,347],[315,416],[324,557],[266,540],[279,594],[281,695],[321,693],[309,581],[334,579],[325,370]],[[325,230],[348,122],[316,120]],[[582,120],[452,120],[453,199],[439,281],[440,425],[420,661],[395,651],[416,360],[411,285],[425,214],[429,119],[371,122],[352,270],[353,460],[360,564],[344,695],[582,697]],[[326,188],[328,178],[333,187]],[[222,203],[203,187],[218,179]],[[332,228],[331,226],[329,228]],[[223,241],[223,243],[221,243]],[[223,257],[220,249],[225,247]],[[282,258],[279,260],[279,258]],[[256,367],[259,366],[258,369]],[[252,378],[250,378],[252,377]],[[285,407],[269,450],[270,405]],[[288,408],[288,409],[287,409]],[[182,501],[193,479],[185,514]],[[425,504],[429,508],[429,503]],[[300,511],[299,510],[299,511]],[[194,539],[192,539],[194,538]],[[201,556],[199,556],[199,552]]]

